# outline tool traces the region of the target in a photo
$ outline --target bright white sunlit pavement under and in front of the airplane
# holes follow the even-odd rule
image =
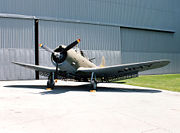
[[[180,93],[123,84],[0,81],[0,133],[180,133]]]

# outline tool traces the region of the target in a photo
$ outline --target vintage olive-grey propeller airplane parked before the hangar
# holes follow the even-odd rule
[[[54,50],[46,45],[40,47],[51,53],[51,62],[55,67],[47,67],[20,62],[12,62],[16,65],[39,71],[40,75],[47,76],[47,88],[53,89],[56,79],[73,79],[76,81],[90,81],[91,88],[97,90],[97,83],[112,82],[114,80],[138,77],[138,73],[150,69],[164,67],[170,63],[168,60],[153,60],[130,64],[105,66],[105,59],[96,66],[82,50],[74,47],[80,42],[75,40],[68,46],[59,45]]]

